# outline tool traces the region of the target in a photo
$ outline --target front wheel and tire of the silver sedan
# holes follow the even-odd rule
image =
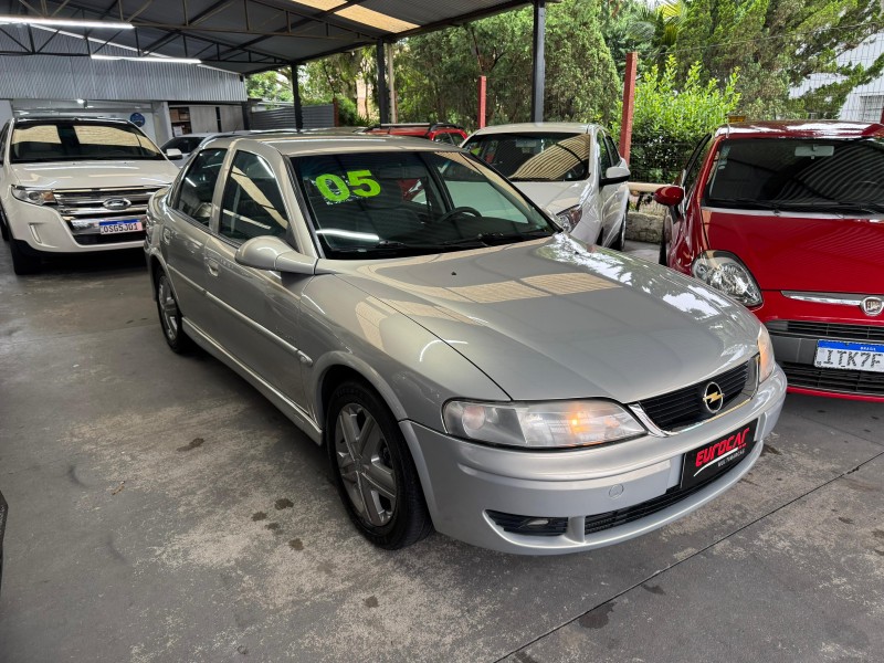
[[[432,532],[408,444],[373,390],[357,381],[335,389],[325,443],[335,485],[362,536],[380,548],[396,550]]]

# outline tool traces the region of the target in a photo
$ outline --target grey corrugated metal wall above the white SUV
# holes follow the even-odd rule
[[[13,27],[7,25],[11,32]],[[15,35],[17,39],[19,35]],[[27,34],[23,35],[27,39]],[[94,48],[94,46],[93,46]],[[19,49],[0,33],[0,50]],[[151,99],[178,102],[244,102],[245,83],[231,74],[192,64],[102,61],[84,56],[82,39],[57,35],[48,46],[55,55],[0,56],[0,98],[7,99]],[[106,55],[131,51],[104,46]]]

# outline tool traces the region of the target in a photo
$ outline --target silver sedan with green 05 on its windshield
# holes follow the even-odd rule
[[[562,232],[456,147],[203,144],[149,207],[169,347],[242,375],[316,443],[385,548],[622,541],[720,495],[786,390],[764,327]]]

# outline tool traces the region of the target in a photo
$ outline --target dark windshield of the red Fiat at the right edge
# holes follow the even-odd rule
[[[725,140],[705,204],[806,211],[884,210],[884,143],[877,138]]]

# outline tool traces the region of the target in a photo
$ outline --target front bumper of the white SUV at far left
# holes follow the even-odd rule
[[[137,249],[144,245],[144,230],[118,235],[102,235],[97,225],[99,221],[123,221],[138,217],[144,227],[143,213],[108,212],[102,219],[69,221],[53,207],[30,204],[11,196],[4,202],[3,209],[12,236],[25,242],[32,252],[92,253]]]

